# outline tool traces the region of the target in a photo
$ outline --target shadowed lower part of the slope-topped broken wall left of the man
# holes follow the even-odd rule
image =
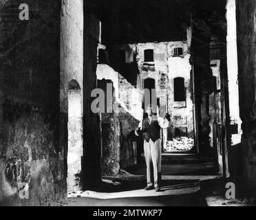
[[[102,175],[115,175],[120,168],[137,164],[138,138],[134,131],[138,120],[125,109],[102,113]]]

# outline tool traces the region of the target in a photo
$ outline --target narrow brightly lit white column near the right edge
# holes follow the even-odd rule
[[[235,0],[227,0],[226,3],[227,21],[227,69],[228,69],[228,97],[231,127],[237,126],[237,133],[231,136],[231,146],[241,143],[242,120],[239,113],[239,87],[237,83],[238,64],[237,64],[237,25]],[[233,130],[233,129],[231,129]]]

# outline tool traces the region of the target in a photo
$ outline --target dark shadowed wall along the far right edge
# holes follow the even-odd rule
[[[242,118],[243,176],[250,195],[256,192],[256,3],[237,1],[237,46],[239,64],[239,106]]]

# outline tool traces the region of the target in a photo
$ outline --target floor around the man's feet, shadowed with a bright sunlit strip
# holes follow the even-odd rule
[[[130,179],[104,177],[99,192],[69,195],[68,206],[207,206],[200,192],[202,179],[215,179],[213,163],[181,162],[162,164],[162,190],[145,191],[145,164],[126,168]]]

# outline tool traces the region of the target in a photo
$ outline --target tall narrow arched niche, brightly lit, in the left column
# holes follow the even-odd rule
[[[68,98],[67,192],[81,190],[81,157],[83,156],[83,100],[76,80],[71,80]]]

